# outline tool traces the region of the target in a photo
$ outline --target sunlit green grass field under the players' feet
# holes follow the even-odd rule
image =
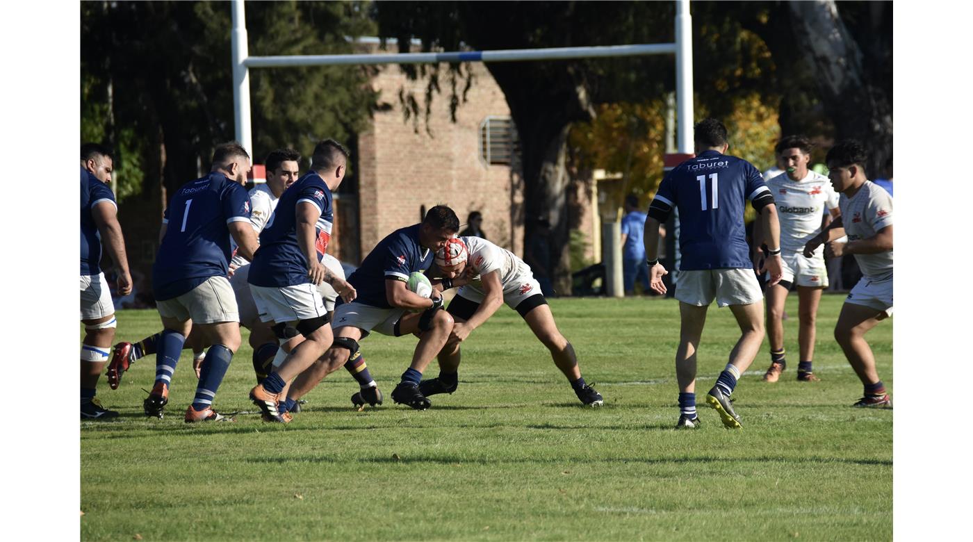
[[[790,296],[780,382],[760,380],[768,343],[739,381],[743,429],[725,430],[703,396],[739,337],[709,310],[697,402],[703,427],[675,431],[673,300],[563,299],[551,306],[585,378],[605,397],[583,409],[547,350],[506,307],[463,349],[459,388],[432,409],[393,405],[414,338],[372,336],[363,352],[386,402],[352,409],[339,371],[288,425],[258,414],[185,424],[196,387],[184,351],[163,419],[142,415],[155,356],[98,396],[117,421],[82,422],[85,540],[888,540],[892,411],[850,404],[861,384],[834,342],[844,297],[818,316],[817,383],[795,380],[797,298]],[[117,337],[158,331],[152,310],[119,313]],[[251,350],[234,357],[215,402],[256,408]],[[869,336],[886,386],[892,323]],[[427,376],[438,373],[435,362]]]

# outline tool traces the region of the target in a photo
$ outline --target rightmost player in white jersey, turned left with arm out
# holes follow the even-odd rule
[[[892,197],[865,177],[868,155],[857,141],[839,142],[828,151],[828,177],[841,194],[842,216],[805,246],[810,255],[823,243],[835,257],[853,254],[861,280],[848,294],[835,339],[865,387],[853,407],[891,408],[892,401],[875,369],[865,334],[892,315]],[[847,235],[847,243],[831,242]]]

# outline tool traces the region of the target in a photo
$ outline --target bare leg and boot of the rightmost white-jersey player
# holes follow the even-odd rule
[[[879,379],[875,367],[875,354],[865,341],[865,334],[884,317],[885,312],[878,308],[846,303],[835,325],[835,340],[841,345],[848,363],[865,388],[863,397],[854,404],[855,407],[891,406],[885,384]]]

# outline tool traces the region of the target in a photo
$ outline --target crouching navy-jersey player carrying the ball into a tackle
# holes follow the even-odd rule
[[[439,291],[434,289],[431,298],[423,298],[409,290],[406,283],[411,273],[428,270],[434,253],[446,246],[458,231],[456,213],[446,205],[436,205],[420,224],[396,230],[378,242],[361,267],[348,277],[358,290],[358,299],[335,307],[334,345],[294,380],[285,408],[342,367],[348,355],[358,351],[358,341],[372,331],[393,337],[419,336],[412,364],[392,391],[392,400],[415,410],[429,408],[429,400],[419,391],[419,380],[422,371],[450,338],[452,317],[446,310],[440,310],[443,298]],[[366,391],[369,390],[352,396],[352,402],[375,405],[380,396],[366,396]]]

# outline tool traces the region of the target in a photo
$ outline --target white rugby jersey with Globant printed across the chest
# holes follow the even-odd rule
[[[838,193],[831,181],[809,170],[800,181],[792,181],[781,173],[767,181],[777,205],[780,220],[780,250],[802,253],[811,237],[821,232],[824,209],[838,208]],[[824,246],[817,247],[814,256],[822,257]]]

